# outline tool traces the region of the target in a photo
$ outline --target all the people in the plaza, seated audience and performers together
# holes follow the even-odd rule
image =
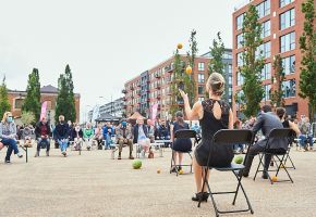
[[[82,150],[85,145],[86,150],[90,151],[93,146],[98,149],[109,150],[118,148],[118,159],[122,158],[122,150],[129,146],[129,158],[133,159],[133,144],[138,144],[139,152],[149,152],[150,143],[155,140],[165,140],[171,143],[173,150],[173,158],[178,161],[179,168],[172,168],[172,171],[181,169],[183,153],[192,149],[190,139],[175,139],[174,133],[182,129],[193,129],[200,137],[200,142],[194,150],[193,168],[197,193],[192,197],[193,201],[206,201],[208,199],[207,189],[202,189],[204,170],[203,166],[224,167],[231,164],[234,154],[246,153],[244,161],[245,168],[239,173],[239,176],[247,177],[254,156],[265,150],[267,138],[272,129],[291,128],[293,137],[296,138],[297,144],[304,150],[309,151],[314,148],[315,125],[309,123],[305,116],[297,119],[289,118],[285,114],[285,108],[278,107],[272,110],[270,105],[264,105],[259,114],[252,116],[247,120],[234,122],[231,106],[228,102],[221,100],[224,91],[224,78],[212,73],[206,84],[206,90],[209,98],[205,101],[197,101],[191,107],[189,95],[179,90],[184,102],[184,113],[177,112],[174,118],[171,119],[148,119],[145,123],[144,118],[138,118],[135,124],[126,119],[120,123],[106,123],[104,126],[98,124],[93,127],[87,123],[84,127],[80,124],[65,122],[64,116],[59,116],[59,123],[51,128],[46,117],[33,126],[25,128],[16,127],[13,122],[13,116],[10,112],[5,112],[0,123],[0,150],[3,145],[8,146],[5,163],[10,163],[12,152],[19,157],[23,157],[17,148],[17,139],[23,139],[24,143],[29,143],[32,140],[32,131],[34,131],[35,140],[37,141],[36,157],[39,156],[40,149],[46,148],[46,155],[49,156],[50,139],[53,139],[58,144],[61,155],[66,156],[66,149],[73,144],[75,150]],[[184,116],[190,120],[190,125],[184,122]],[[256,136],[253,145],[247,150],[244,144],[235,144],[234,148],[212,144],[214,135],[221,129],[250,129]],[[168,143],[166,142],[166,143]],[[269,149],[275,151],[288,150],[289,142],[285,139],[278,141],[269,140]],[[271,155],[265,156],[266,171],[270,165]],[[263,173],[263,178],[267,179],[268,175]]]

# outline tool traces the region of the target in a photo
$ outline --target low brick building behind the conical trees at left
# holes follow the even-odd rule
[[[15,118],[21,117],[21,108],[26,97],[26,91],[9,90],[9,103],[11,104],[11,112]],[[40,88],[40,103],[47,101],[47,118],[51,124],[54,124],[54,107],[58,97],[58,89],[53,86],[44,86]],[[76,122],[80,122],[80,100],[81,95],[75,93],[75,110]]]

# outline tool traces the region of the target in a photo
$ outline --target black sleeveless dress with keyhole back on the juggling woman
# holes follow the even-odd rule
[[[218,102],[221,107],[221,118],[216,119],[212,113],[214,103]],[[202,102],[204,115],[199,120],[202,127],[202,142],[195,149],[195,158],[200,166],[224,167],[231,164],[233,148],[226,144],[211,144],[214,135],[220,129],[228,129],[230,105],[224,101],[208,99]]]

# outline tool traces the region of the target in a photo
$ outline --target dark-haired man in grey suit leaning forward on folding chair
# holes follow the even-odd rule
[[[264,105],[252,130],[253,130],[254,135],[256,135],[259,130],[262,130],[265,139],[262,139],[258,142],[256,142],[254,145],[250,146],[248,152],[247,152],[247,157],[245,158],[245,162],[244,162],[245,168],[243,169],[243,173],[242,173],[242,175],[244,177],[248,177],[254,156],[259,154],[260,152],[263,152],[265,150],[269,133],[274,128],[282,129],[283,125],[282,125],[281,120],[279,119],[279,117],[274,112],[271,112],[271,106]],[[271,150],[271,151],[272,150],[274,151],[281,151],[281,150],[287,151],[288,150],[287,139],[284,138],[281,140],[279,140],[279,139],[271,140],[269,142],[269,150]],[[265,155],[264,165],[265,165],[266,170],[269,169],[271,157],[272,156],[270,154]],[[267,179],[268,174],[264,171],[263,178]]]

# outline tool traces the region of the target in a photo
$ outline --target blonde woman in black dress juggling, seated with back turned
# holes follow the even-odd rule
[[[193,157],[194,178],[196,183],[196,195],[193,201],[207,201],[208,193],[202,189],[204,169],[203,166],[226,167],[231,165],[233,158],[232,146],[212,144],[214,135],[220,129],[233,129],[233,113],[228,102],[221,100],[224,92],[224,78],[218,73],[212,73],[206,82],[206,90],[209,98],[203,102],[195,102],[190,106],[189,97],[182,90],[180,93],[184,101],[184,111],[189,120],[199,120],[202,128],[202,140],[196,146]],[[208,162],[208,157],[210,161]],[[207,163],[209,163],[207,165]],[[208,180],[207,174],[207,180]]]

